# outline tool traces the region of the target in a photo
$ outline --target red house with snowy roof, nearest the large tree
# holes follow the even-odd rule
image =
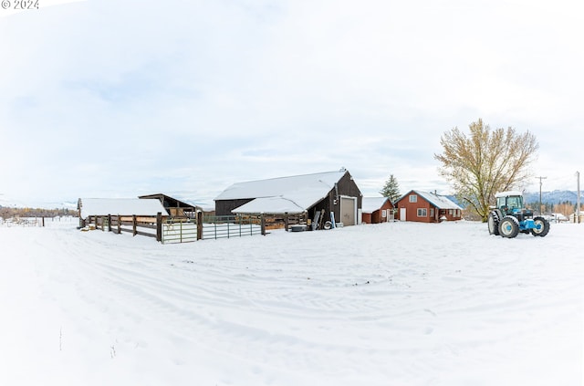
[[[412,190],[395,202],[400,221],[440,223],[462,219],[463,208],[444,195]]]

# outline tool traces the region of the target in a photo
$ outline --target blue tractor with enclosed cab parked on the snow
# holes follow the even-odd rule
[[[496,206],[491,206],[487,223],[490,235],[513,238],[519,234],[543,237],[549,232],[549,222],[542,216],[534,217],[531,209],[523,206],[521,192],[495,194]]]

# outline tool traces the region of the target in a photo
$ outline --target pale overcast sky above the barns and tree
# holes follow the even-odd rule
[[[9,3],[0,203],[213,203],[341,167],[364,195],[451,193],[441,135],[479,118],[537,136],[544,191],[584,172],[581,0]]]

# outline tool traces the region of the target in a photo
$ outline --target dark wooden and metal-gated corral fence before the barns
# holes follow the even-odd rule
[[[196,240],[266,235],[266,219],[258,215],[169,216],[152,215],[90,215],[82,229],[100,229],[104,232],[155,237],[162,244],[189,243]]]

